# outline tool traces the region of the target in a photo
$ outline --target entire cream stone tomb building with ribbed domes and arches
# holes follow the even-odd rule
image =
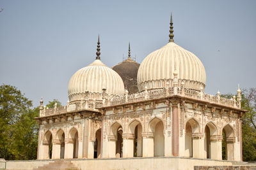
[[[113,69],[100,60],[98,39],[96,59],[70,79],[67,106],[45,108],[40,101],[38,159],[242,160],[241,90],[232,99],[205,94],[204,66],[174,43],[172,17],[169,37],[141,64],[129,50]]]

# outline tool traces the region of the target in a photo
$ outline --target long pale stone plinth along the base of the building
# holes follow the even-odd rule
[[[227,160],[193,159],[183,157],[149,157],[130,159],[63,159],[69,160],[81,170],[94,169],[170,169],[193,170],[194,166],[232,166]],[[56,161],[60,161],[56,160]],[[16,160],[6,161],[6,169],[33,169],[54,162],[54,160]]]

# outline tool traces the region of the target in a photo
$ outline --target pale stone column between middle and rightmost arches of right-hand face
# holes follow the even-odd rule
[[[222,159],[222,136],[214,135],[210,138],[211,142],[211,159]]]

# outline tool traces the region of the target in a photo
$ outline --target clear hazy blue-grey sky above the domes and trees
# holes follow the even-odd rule
[[[11,1],[1,0],[0,83],[17,87],[37,106],[66,104],[68,81],[95,59],[112,67],[131,54],[137,62],[168,42],[205,67],[205,92],[256,87],[256,1]]]

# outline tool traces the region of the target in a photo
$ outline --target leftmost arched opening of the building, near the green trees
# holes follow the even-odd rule
[[[43,141],[44,159],[52,159],[52,133],[47,131]]]

